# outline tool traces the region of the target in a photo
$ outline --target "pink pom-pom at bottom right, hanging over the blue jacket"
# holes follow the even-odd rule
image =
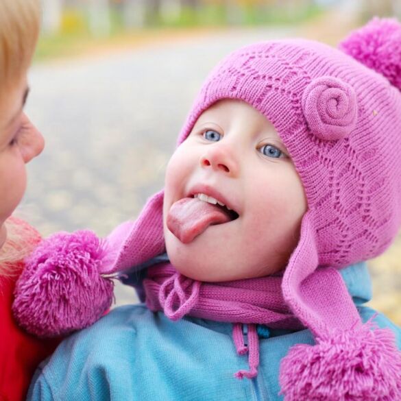
[[[299,344],[280,365],[285,401],[401,400],[401,352],[389,329],[368,323]]]

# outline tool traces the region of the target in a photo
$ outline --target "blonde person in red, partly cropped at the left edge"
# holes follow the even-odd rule
[[[39,19],[36,0],[0,2],[0,400],[10,401],[25,400],[36,367],[55,349],[21,330],[11,311],[23,258],[40,242],[34,228],[10,217],[25,191],[25,164],[44,145],[23,112]]]

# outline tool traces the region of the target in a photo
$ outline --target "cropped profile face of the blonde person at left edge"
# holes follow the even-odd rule
[[[0,91],[0,247],[6,237],[4,221],[25,192],[25,164],[44,146],[42,135],[23,112],[26,95],[25,78]]]

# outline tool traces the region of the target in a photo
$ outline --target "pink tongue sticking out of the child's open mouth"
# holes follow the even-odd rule
[[[167,227],[182,243],[190,243],[208,226],[230,220],[228,210],[194,197],[185,197],[171,206]]]

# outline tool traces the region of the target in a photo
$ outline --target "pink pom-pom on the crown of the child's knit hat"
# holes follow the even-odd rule
[[[401,24],[396,19],[372,19],[339,48],[401,90]]]

